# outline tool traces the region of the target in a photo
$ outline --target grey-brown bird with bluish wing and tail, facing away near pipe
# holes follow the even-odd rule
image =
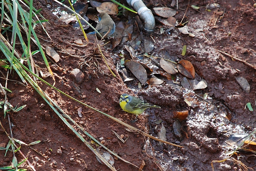
[[[101,12],[99,14],[99,22],[97,23],[95,29],[101,34],[102,37],[104,35],[105,37],[110,37],[115,32],[116,25],[115,25],[115,22],[111,19],[111,17],[107,13]],[[89,35],[95,34],[95,31],[90,32],[88,34]]]

